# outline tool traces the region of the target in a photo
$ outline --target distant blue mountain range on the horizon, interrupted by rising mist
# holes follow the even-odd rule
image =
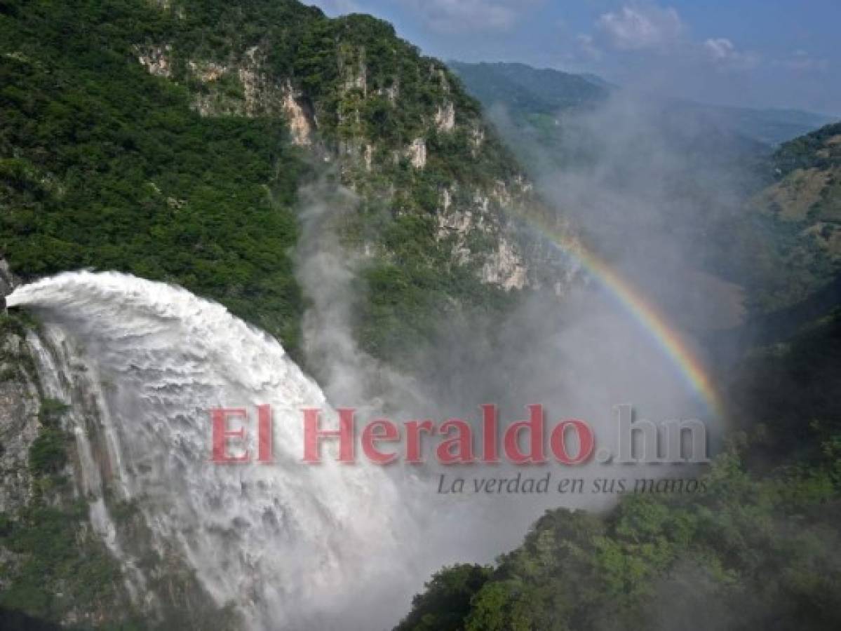
[[[619,89],[599,76],[537,69],[519,63],[468,64],[450,61],[468,92],[486,107],[504,105],[513,118],[556,115],[587,108]],[[667,113],[685,113],[720,131],[739,134],[763,145],[780,145],[833,122],[833,118],[797,109],[734,108],[681,99],[660,99]]]

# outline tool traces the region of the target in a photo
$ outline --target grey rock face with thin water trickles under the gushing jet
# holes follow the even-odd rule
[[[18,284],[0,260],[0,295]],[[151,544],[117,473],[108,382],[76,351],[29,313],[0,314],[0,608],[72,627],[235,628],[185,560]]]

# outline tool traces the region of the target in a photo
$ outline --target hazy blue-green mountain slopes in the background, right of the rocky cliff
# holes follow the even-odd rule
[[[837,126],[772,148],[826,117],[657,101],[603,86],[584,106],[570,107],[563,91],[578,95],[580,76],[522,65],[454,68],[487,106],[503,106],[492,110],[501,133],[550,197],[558,197],[551,192],[558,175],[576,172],[591,187],[638,189],[643,196],[647,187],[669,191],[671,208],[654,213],[663,226],[644,223],[638,213],[585,214],[603,240],[611,231],[609,246],[670,230],[670,246],[685,260],[745,287],[756,314],[791,306],[833,278]],[[535,96],[541,94],[553,96]],[[625,151],[621,159],[617,147]],[[663,162],[657,170],[648,168],[657,160]]]

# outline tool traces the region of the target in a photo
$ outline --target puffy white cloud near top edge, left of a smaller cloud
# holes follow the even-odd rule
[[[604,13],[596,25],[619,50],[662,50],[679,41],[685,27],[674,8],[654,4]]]

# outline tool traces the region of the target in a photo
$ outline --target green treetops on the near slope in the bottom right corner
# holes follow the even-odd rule
[[[731,455],[708,486],[700,501],[627,497],[606,519],[547,513],[500,557],[468,614],[437,628],[837,628],[841,502],[830,477],[756,481]],[[439,615],[446,596],[417,598],[398,628],[427,628],[413,621]]]

